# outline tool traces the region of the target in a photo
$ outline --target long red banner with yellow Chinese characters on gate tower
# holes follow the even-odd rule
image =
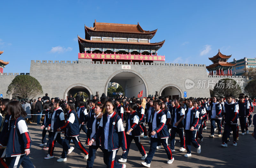
[[[91,53],[78,53],[78,59],[165,61],[165,56],[161,56],[161,55],[132,55],[132,54],[91,54]]]

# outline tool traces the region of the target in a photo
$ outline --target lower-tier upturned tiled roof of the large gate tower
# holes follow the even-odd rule
[[[96,40],[87,40],[81,37],[78,37],[78,41],[81,42],[88,42],[88,43],[110,43],[110,44],[134,44],[134,45],[147,45],[147,46],[163,46],[164,41],[157,42],[157,43],[140,43],[140,42],[123,42],[123,41],[96,41]]]

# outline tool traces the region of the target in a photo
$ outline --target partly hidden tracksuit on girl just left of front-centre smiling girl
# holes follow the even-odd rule
[[[102,116],[103,116],[102,113],[100,113],[96,116],[94,115],[93,120],[91,122],[91,125],[88,125],[88,131],[87,131],[88,140],[92,139],[92,137],[98,131],[98,127],[100,125],[100,120],[101,120]],[[100,146],[101,146],[100,137],[98,139],[96,139],[96,141],[94,141],[91,146],[89,146],[89,157],[87,159],[86,168],[92,168],[93,167],[93,163],[94,163],[94,159],[95,159],[95,153],[96,153],[98,148],[101,148]]]

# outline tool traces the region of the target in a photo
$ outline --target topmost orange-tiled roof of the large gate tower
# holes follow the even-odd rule
[[[98,23],[94,22],[94,27],[87,27],[84,25],[84,28],[88,31],[98,31],[98,32],[123,32],[123,33],[142,33],[142,34],[155,34],[156,30],[145,31],[141,28],[139,22],[138,24],[118,24],[118,23]]]

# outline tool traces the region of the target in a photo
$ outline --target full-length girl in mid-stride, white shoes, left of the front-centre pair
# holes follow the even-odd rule
[[[69,143],[71,139],[73,140],[73,143],[75,144],[76,148],[78,148],[82,153],[85,154],[84,159],[88,159],[88,152],[78,138],[80,133],[79,118],[76,114],[75,103],[68,101],[66,104],[66,110],[68,111],[67,122],[64,125],[57,128],[57,131],[66,130],[66,136],[63,141],[63,152],[61,154],[61,157],[57,160],[57,162],[67,161],[67,154],[68,149],[70,149]]]

